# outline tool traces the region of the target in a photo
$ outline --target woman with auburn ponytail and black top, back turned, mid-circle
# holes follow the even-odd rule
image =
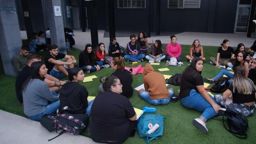
[[[111,68],[115,70],[115,72],[113,72],[111,76],[118,77],[123,85],[121,95],[127,98],[131,97],[133,94],[133,88],[131,86],[133,79],[132,75],[128,72],[128,70],[125,70],[125,62],[122,56],[113,58],[110,65]],[[103,77],[102,79],[100,79],[100,82],[105,81],[105,79],[106,77]],[[99,86],[99,92],[104,92],[102,84]]]

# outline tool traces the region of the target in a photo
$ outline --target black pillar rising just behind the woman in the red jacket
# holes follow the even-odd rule
[[[91,30],[91,40],[93,49],[97,47],[98,40],[98,28],[97,28],[97,13],[96,13],[96,1],[90,1],[90,30]]]

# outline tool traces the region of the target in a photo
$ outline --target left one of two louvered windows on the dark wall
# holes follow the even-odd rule
[[[118,0],[118,8],[146,8],[146,0]]]

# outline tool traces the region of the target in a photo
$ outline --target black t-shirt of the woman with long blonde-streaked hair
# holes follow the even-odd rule
[[[237,90],[235,89],[235,92],[233,93],[233,84],[231,83],[230,86],[228,87],[230,91],[232,91],[232,97],[233,97],[233,102],[234,103],[246,103],[246,102],[255,102],[255,88],[253,86],[253,91],[251,94],[241,94],[238,93]]]

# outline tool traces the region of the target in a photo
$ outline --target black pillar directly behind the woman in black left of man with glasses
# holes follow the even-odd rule
[[[114,10],[114,0],[108,0],[109,5],[109,41],[110,38],[115,38],[115,10]]]

